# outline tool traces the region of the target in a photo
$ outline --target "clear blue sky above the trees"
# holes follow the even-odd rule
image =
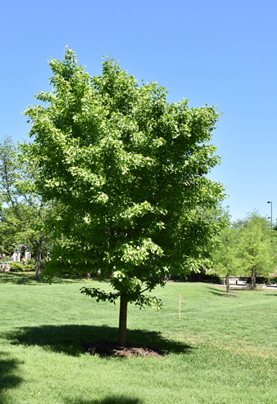
[[[90,75],[110,54],[138,80],[158,81],[168,101],[218,105],[211,173],[229,195],[233,219],[253,209],[277,217],[277,2],[257,0],[3,2],[1,138],[26,139],[20,114],[49,90],[49,58],[68,45]]]

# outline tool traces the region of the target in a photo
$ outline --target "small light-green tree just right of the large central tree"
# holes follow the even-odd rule
[[[235,227],[225,227],[219,235],[219,245],[213,252],[213,272],[225,275],[226,294],[230,292],[230,275],[238,275],[241,262],[238,257],[239,231]]]

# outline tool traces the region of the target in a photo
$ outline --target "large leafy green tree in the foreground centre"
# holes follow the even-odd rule
[[[219,114],[166,101],[157,83],[140,85],[112,59],[90,77],[75,53],[50,60],[51,92],[26,110],[32,124],[29,158],[39,167],[37,192],[59,204],[48,225],[57,239],[55,262],[86,263],[112,274],[113,292],[84,288],[98,300],[120,298],[119,344],[126,340],[127,304],[159,301],[145,295],[170,273],[197,270],[207,260],[220,223],[201,214],[223,198],[206,178],[218,163],[210,144]]]

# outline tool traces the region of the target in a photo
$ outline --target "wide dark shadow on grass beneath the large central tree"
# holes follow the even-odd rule
[[[92,341],[116,341],[118,328],[107,325],[41,325],[37,327],[15,328],[5,337],[11,344],[34,346],[68,355],[84,353],[81,344]],[[160,332],[149,330],[128,330],[127,342],[147,345],[163,350],[165,353],[189,353],[195,349],[178,341],[164,338]]]

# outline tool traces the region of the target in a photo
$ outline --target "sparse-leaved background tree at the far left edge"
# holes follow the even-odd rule
[[[42,224],[47,206],[38,194],[32,193],[35,169],[26,163],[23,155],[21,160],[19,157],[18,147],[11,138],[4,138],[0,143],[0,215],[2,237],[5,236],[6,240],[2,242],[6,249],[15,246],[8,246],[7,242],[32,245],[36,259],[35,278],[39,280],[41,248],[45,239]]]

